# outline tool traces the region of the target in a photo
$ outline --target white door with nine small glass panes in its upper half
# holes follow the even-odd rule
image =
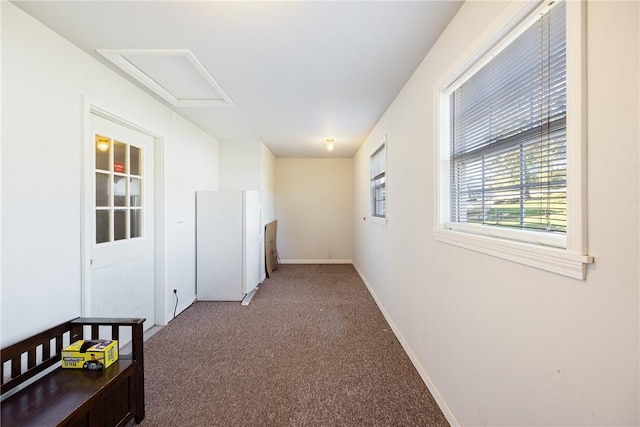
[[[86,315],[155,323],[153,137],[91,114]]]

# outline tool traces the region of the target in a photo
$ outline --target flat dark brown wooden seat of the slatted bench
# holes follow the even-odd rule
[[[119,359],[104,371],[58,368],[2,402],[6,426],[54,426],[116,380],[134,376],[135,362]],[[129,372],[127,372],[129,371]],[[122,377],[119,375],[123,373]]]

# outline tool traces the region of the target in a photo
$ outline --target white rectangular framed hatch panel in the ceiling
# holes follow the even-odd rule
[[[97,49],[176,107],[235,107],[188,49]]]

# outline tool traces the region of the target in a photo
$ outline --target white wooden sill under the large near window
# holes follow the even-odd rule
[[[541,270],[585,280],[587,265],[593,257],[567,252],[565,249],[538,246],[452,230],[434,230],[438,242],[492,255]]]

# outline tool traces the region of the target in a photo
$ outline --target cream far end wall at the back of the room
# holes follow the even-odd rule
[[[276,159],[277,248],[283,263],[353,259],[352,159]]]

